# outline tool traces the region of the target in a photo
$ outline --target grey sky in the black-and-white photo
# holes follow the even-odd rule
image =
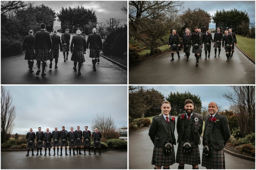
[[[127,14],[121,11],[122,5],[126,6],[127,1],[34,1],[36,5],[44,4],[52,8],[55,13],[59,13],[61,8],[71,8],[83,6],[86,9],[93,9],[96,13],[98,22],[105,22],[110,18],[121,19],[121,22],[127,24]],[[57,18],[56,18],[57,19]],[[57,20],[54,26],[60,26]]]

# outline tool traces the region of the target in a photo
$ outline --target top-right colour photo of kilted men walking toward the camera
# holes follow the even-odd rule
[[[255,84],[255,1],[128,6],[129,84]]]

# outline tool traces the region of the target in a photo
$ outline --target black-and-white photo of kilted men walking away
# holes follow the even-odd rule
[[[1,84],[127,84],[127,1],[1,1]]]

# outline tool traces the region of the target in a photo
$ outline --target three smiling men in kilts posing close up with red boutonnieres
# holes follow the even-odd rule
[[[218,113],[218,105],[212,101],[208,104],[209,115],[203,116],[193,112],[192,100],[185,100],[185,113],[179,114],[177,120],[169,116],[171,104],[162,102],[162,114],[153,118],[149,129],[149,136],[154,144],[152,165],[154,169],[170,169],[170,165],[179,163],[178,169],[184,169],[185,164],[192,165],[192,169],[199,169],[201,164],[199,145],[203,132],[202,166],[207,169],[225,169],[224,146],[231,135],[227,117]],[[178,150],[175,160],[174,135],[177,122]]]

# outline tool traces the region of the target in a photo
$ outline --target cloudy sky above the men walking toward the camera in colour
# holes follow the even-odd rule
[[[251,23],[255,23],[255,1],[185,1],[183,5],[185,10],[201,8],[207,11],[211,16],[216,11],[230,10],[236,8],[239,11],[246,11],[248,13]],[[228,18],[227,18],[228,19]],[[212,21],[212,20],[211,20]],[[215,23],[210,23],[209,28],[215,28]]]

